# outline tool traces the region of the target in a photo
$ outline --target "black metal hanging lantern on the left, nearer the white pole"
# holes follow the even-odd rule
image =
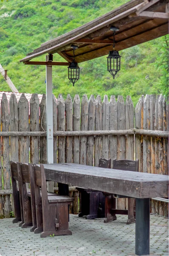
[[[71,45],[73,48],[73,55],[75,49],[78,47],[75,45]],[[75,56],[74,56],[75,57]],[[80,74],[80,67],[78,66],[77,62],[75,60],[72,61],[72,63],[69,64],[68,67],[68,79],[72,82],[73,86],[77,80],[79,80],[79,74]]]

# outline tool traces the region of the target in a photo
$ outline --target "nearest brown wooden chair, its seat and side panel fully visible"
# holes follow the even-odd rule
[[[30,166],[30,177],[34,177],[37,228],[40,237],[72,235],[69,230],[68,205],[74,200],[66,195],[48,196],[44,166]],[[32,181],[32,178],[31,178]],[[32,183],[31,183],[32,186]],[[40,195],[40,186],[41,193]]]

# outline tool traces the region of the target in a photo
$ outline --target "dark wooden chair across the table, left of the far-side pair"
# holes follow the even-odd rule
[[[111,168],[111,159],[107,160],[100,158],[99,167]],[[86,215],[86,219],[104,218],[105,216],[107,218],[107,215],[109,215],[109,207],[107,207],[105,212],[105,195],[103,195],[103,192],[78,187],[77,189],[81,193],[81,212],[78,215],[79,217]],[[106,198],[106,204],[109,206],[112,202],[110,197],[112,198],[112,196]],[[112,204],[111,206],[113,207]],[[110,217],[112,217],[112,215]]]

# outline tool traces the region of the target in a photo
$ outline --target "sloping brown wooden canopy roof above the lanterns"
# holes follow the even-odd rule
[[[77,63],[108,55],[113,44],[111,26],[119,28],[115,35],[117,51],[158,38],[168,34],[168,7],[169,0],[131,0],[112,12],[41,44],[20,62],[31,64],[31,59],[47,53],[58,53],[66,61],[72,62],[72,44],[78,46],[75,50]]]

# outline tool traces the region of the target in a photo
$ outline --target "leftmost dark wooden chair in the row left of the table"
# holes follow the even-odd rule
[[[18,172],[17,172],[17,163],[10,161],[11,166],[11,183],[13,190],[13,198],[14,198],[14,213],[15,218],[13,219],[13,223],[22,222],[23,224],[23,208],[22,208],[22,200],[21,200],[21,188],[18,182]],[[19,189],[19,190],[18,190]]]

